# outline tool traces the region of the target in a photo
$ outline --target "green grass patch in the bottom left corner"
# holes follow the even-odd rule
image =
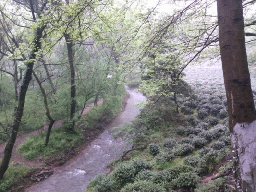
[[[27,167],[23,163],[12,162],[0,182],[0,192],[6,192],[12,185],[36,169],[35,167]]]

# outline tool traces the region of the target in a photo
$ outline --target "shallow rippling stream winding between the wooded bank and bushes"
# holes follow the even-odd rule
[[[133,90],[127,90],[130,98],[126,108],[85,150],[75,159],[67,162],[48,179],[32,186],[26,192],[84,192],[89,182],[107,170],[109,162],[122,155],[125,142],[114,139],[112,127],[134,120],[140,113],[134,104],[145,101],[146,97]]]

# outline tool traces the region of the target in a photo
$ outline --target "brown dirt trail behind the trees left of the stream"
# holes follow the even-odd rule
[[[99,100],[98,105],[100,105],[101,103],[102,103],[102,100]],[[94,103],[91,103],[91,104],[87,105],[84,108],[82,115],[85,115],[93,106],[94,106]],[[63,124],[63,122],[64,122],[64,120],[55,121],[55,123],[52,126],[52,129],[54,129],[56,127],[60,127]],[[32,132],[18,133],[15,145],[14,145],[13,150],[12,150],[11,161],[22,162],[25,165],[30,166],[30,167],[32,167],[32,166],[41,167],[43,162],[40,162],[38,159],[34,160],[34,161],[26,160],[19,153],[16,152],[16,149],[20,144],[22,144],[24,142],[24,140],[27,137],[29,137],[31,135],[41,134],[41,132],[43,132],[44,130],[47,130],[47,128],[48,128],[48,125],[45,125],[45,126],[41,127],[40,129],[37,129],[37,130],[32,131]],[[5,148],[6,144],[7,144],[7,142],[4,142],[4,143],[0,144],[0,158],[2,158],[4,156],[4,148]]]

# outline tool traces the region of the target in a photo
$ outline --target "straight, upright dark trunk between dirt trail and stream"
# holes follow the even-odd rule
[[[69,120],[69,130],[73,131],[74,129],[74,116],[75,116],[75,107],[76,107],[76,89],[75,89],[75,69],[73,65],[73,41],[71,37],[66,34],[65,35],[67,50],[68,50],[68,62],[70,68],[70,120]]]

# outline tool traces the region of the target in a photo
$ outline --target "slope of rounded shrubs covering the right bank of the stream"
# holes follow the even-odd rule
[[[138,150],[123,162],[112,162],[114,170],[95,178],[86,192],[235,190],[232,175],[203,181],[209,173],[232,169],[222,70],[194,66],[185,73],[193,92],[178,96],[180,113],[171,96],[149,103],[132,125],[122,128],[127,131],[122,136]]]

